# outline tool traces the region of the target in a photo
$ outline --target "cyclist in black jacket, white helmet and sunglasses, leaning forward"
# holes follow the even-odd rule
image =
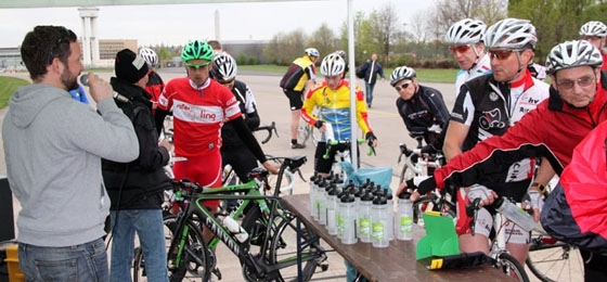
[[[390,85],[399,93],[397,110],[410,133],[423,133],[427,143],[425,151],[442,148],[440,132],[449,121],[449,111],[442,93],[434,88],[421,86],[415,69],[408,66],[395,68]]]

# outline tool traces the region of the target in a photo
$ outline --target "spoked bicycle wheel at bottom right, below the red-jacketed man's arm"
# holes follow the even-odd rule
[[[584,261],[580,251],[545,234],[532,233],[526,265],[544,282],[584,280]]]

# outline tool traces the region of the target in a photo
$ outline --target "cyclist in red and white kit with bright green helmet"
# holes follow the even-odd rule
[[[173,114],[176,179],[185,178],[204,188],[221,187],[221,127],[225,123],[235,129],[263,167],[275,172],[247,128],[234,94],[209,78],[212,57],[214,51],[207,42],[188,42],[181,52],[188,77],[170,80],[158,99],[156,124],[162,124],[168,111]],[[218,204],[218,201],[205,202],[211,211],[216,211]]]

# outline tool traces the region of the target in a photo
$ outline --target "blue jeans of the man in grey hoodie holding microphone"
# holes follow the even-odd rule
[[[103,239],[65,247],[18,244],[20,268],[28,282],[107,282],[107,254]]]

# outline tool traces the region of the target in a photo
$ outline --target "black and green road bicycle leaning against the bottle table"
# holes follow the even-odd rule
[[[297,234],[296,217],[281,206],[280,183],[286,169],[293,171],[305,162],[305,156],[283,159],[273,195],[261,195],[256,180],[247,182],[246,184],[249,185],[247,189],[233,185],[211,190],[202,190],[196,183],[188,181],[176,182],[178,191],[184,193],[184,209],[170,219],[171,222],[166,222],[170,223],[168,225],[170,245],[167,251],[167,265],[171,281],[182,281],[186,274],[190,278],[202,278],[203,281],[207,281],[211,271],[216,270],[215,257],[210,249],[219,241],[223,242],[240,259],[243,278],[246,281],[284,281],[285,277],[282,272],[287,268],[297,267],[298,259],[304,264],[301,272],[304,281],[309,281],[319,266],[323,271],[326,270],[328,266],[323,264],[326,260],[325,252],[320,246],[319,236],[309,228],[305,226],[302,232],[299,232],[304,240],[300,256],[295,255],[297,244],[287,242],[289,238],[295,238]],[[263,175],[267,176],[267,172]],[[266,183],[263,175],[258,179]],[[225,194],[236,191],[246,194]],[[241,227],[249,236],[243,242],[238,241],[236,236],[238,234],[232,234],[220,223],[219,217],[224,215],[218,215],[216,218],[202,205],[204,200],[224,198],[244,200],[231,215],[232,218],[248,209]],[[205,225],[216,235],[208,244],[202,240],[198,225]],[[133,269],[135,277],[141,277],[144,273],[143,269]]]

